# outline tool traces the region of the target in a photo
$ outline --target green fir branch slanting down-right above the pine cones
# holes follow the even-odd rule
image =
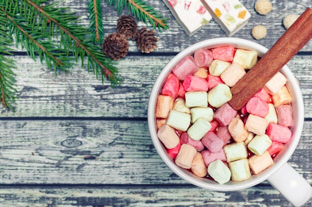
[[[168,29],[167,18],[162,18],[160,14],[143,0],[107,0],[110,6],[117,8],[118,15],[128,6],[128,11],[145,23],[150,22],[155,29]]]

